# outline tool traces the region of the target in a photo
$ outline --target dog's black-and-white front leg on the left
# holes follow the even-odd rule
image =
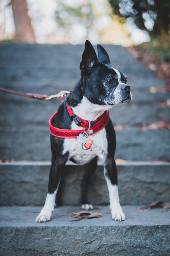
[[[55,158],[52,159],[52,165],[49,175],[48,194],[43,209],[40,211],[36,218],[36,222],[48,222],[50,221],[51,214],[54,210],[55,197],[57,189],[60,184],[60,180],[63,174],[63,168],[67,159]]]

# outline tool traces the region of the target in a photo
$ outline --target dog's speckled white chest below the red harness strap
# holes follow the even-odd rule
[[[82,148],[82,142],[79,139],[65,139],[63,154],[69,152],[69,158],[73,158],[79,164],[90,162],[95,156],[98,156],[101,161],[107,154],[107,139],[105,128],[101,131],[92,134],[92,145],[88,150]]]

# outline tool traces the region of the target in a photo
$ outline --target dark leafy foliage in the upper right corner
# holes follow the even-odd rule
[[[134,22],[150,36],[169,35],[169,0],[108,0],[115,14]]]

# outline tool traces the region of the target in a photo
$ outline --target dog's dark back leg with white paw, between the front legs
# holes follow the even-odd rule
[[[94,206],[88,202],[87,189],[88,182],[97,168],[97,156],[89,163],[84,165],[84,175],[81,182],[81,208],[85,210],[94,209]]]

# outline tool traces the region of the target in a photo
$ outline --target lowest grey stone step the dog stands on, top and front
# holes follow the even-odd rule
[[[3,256],[168,256],[169,213],[124,206],[126,221],[116,222],[102,206],[103,216],[70,223],[78,207],[59,207],[51,221],[36,223],[40,207],[0,207]],[[66,216],[62,216],[66,215]]]

